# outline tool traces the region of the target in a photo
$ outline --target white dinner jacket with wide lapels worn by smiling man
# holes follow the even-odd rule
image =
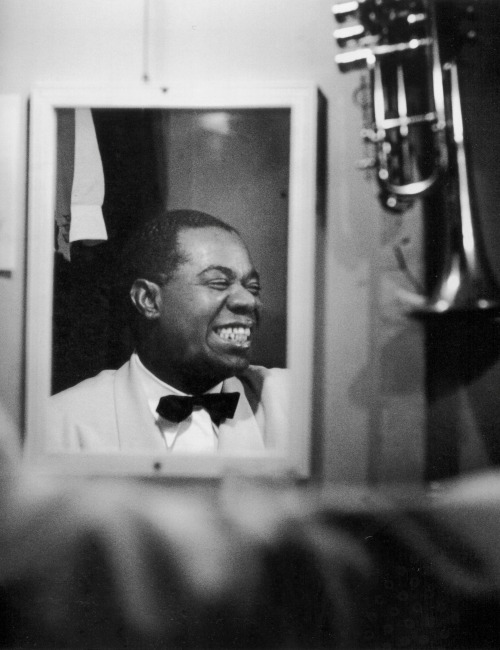
[[[219,451],[273,448],[288,434],[288,371],[250,366],[223,382],[240,393],[232,419],[219,427]],[[167,453],[130,360],[49,400],[48,452]]]

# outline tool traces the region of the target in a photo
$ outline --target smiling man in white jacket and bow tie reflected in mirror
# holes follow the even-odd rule
[[[149,219],[122,257],[136,350],[51,398],[50,450],[275,446],[287,434],[287,372],[250,365],[261,287],[238,232],[176,210]]]

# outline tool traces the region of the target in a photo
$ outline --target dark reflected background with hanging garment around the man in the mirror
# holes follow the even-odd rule
[[[115,269],[156,206],[208,212],[241,233],[263,287],[252,363],[285,367],[289,110],[94,109],[90,123],[87,111],[57,111],[52,392],[133,351]]]

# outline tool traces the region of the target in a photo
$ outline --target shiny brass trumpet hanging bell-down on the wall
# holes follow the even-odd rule
[[[442,47],[437,10],[444,0],[354,0],[333,7],[341,71],[365,68],[382,205],[404,211],[421,199],[427,240],[439,259],[413,315],[496,314],[500,294],[483,251],[467,169],[455,52]],[[473,4],[454,0],[469,18]],[[356,22],[353,23],[353,19]],[[349,24],[347,24],[349,23]],[[466,33],[472,35],[472,29]],[[435,229],[436,235],[433,234]],[[430,232],[430,234],[429,234]]]

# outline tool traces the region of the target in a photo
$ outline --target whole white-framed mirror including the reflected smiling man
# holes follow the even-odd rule
[[[32,101],[27,458],[306,475],[317,92],[82,96]]]

